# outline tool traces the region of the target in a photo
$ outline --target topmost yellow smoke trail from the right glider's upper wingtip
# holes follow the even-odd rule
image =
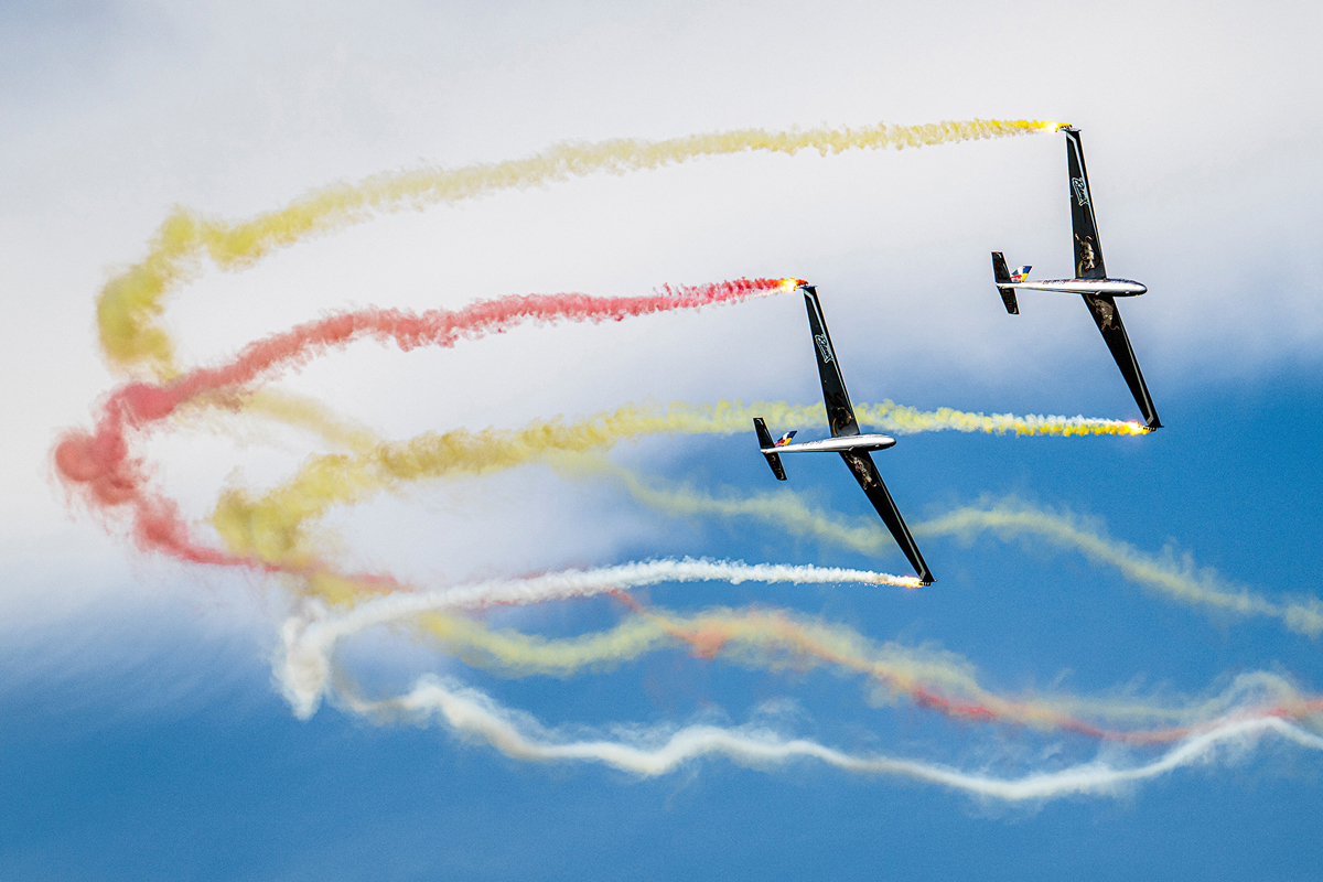
[[[147,257],[110,279],[97,301],[101,345],[112,365],[146,365],[173,376],[173,345],[157,324],[167,296],[193,278],[205,253],[222,270],[253,266],[277,249],[368,220],[373,214],[455,204],[507,189],[525,189],[594,172],[623,175],[685,163],[703,156],[759,151],[823,156],[847,149],[922,147],[1056,131],[1057,123],[974,119],[923,126],[864,126],[769,132],[746,128],[671,140],[617,139],[562,143],[504,163],[455,169],[421,168],[382,173],[357,184],[312,190],[275,212],[246,221],[218,221],[175,209],[152,238]]]

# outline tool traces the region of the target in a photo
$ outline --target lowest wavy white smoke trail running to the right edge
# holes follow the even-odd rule
[[[377,718],[422,721],[439,717],[456,734],[483,741],[513,759],[529,762],[594,762],[652,778],[706,756],[751,767],[777,767],[796,759],[816,759],[859,774],[909,778],[1004,801],[1049,800],[1072,795],[1117,795],[1126,785],[1166,775],[1183,766],[1211,762],[1220,748],[1246,751],[1267,734],[1311,750],[1323,750],[1323,738],[1278,717],[1228,719],[1193,735],[1158,759],[1140,766],[1113,766],[1098,759],[1052,772],[1007,779],[964,772],[949,766],[880,754],[847,754],[807,739],[785,739],[766,727],[722,729],[687,726],[654,729],[620,738],[565,741],[528,714],[501,707],[488,696],[456,682],[422,677],[398,698],[365,701],[345,697],[351,710]]]

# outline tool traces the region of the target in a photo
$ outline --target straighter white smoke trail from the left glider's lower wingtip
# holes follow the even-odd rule
[[[863,582],[914,587],[914,577],[888,575],[869,570],[839,567],[782,566],[729,561],[646,561],[598,570],[565,570],[525,579],[491,579],[475,584],[396,592],[365,600],[349,612],[332,615],[320,600],[310,600],[299,615],[280,628],[282,649],[275,674],[294,713],[307,719],[316,713],[331,680],[331,655],[341,639],[366,628],[400,621],[437,610],[480,610],[496,604],[541,603],[586,598],[619,588],[636,588],[662,582],[790,582],[823,584]]]

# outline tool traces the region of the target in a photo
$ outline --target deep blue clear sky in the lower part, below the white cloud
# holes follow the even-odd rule
[[[1118,537],[1171,536],[1200,563],[1266,592],[1308,584],[1308,543],[1289,537],[1307,536],[1318,517],[1310,460],[1320,444],[1314,415],[1323,390],[1297,376],[1208,393],[1203,407],[1172,402],[1174,426],[1189,426],[1176,443],[1164,439],[1177,431],[1144,439],[1138,452],[1123,439],[916,436],[893,451],[888,477],[897,495],[919,501],[912,510],[922,510],[925,499],[964,497],[971,489],[1015,491],[1106,512]],[[1256,419],[1220,424],[1228,398]],[[712,456],[714,471],[761,477],[762,463],[749,468],[738,439],[695,447]],[[909,455],[901,459],[901,451]],[[1134,485],[1076,487],[1068,479],[1082,456],[1090,467],[1125,469]],[[833,504],[863,510],[840,480],[843,469],[818,471]],[[1282,475],[1295,476],[1294,485]],[[1252,491],[1238,510],[1230,510],[1228,485]],[[778,542],[766,529],[696,532],[697,538],[676,530],[675,550],[763,559]],[[663,537],[660,550],[672,550],[665,545]],[[656,553],[658,545],[631,551]],[[1012,689],[1069,669],[1068,684],[1080,692],[1143,676],[1144,688],[1166,682],[1199,693],[1228,672],[1265,665],[1316,684],[1312,641],[1271,625],[1211,620],[1078,555],[991,540],[968,549],[930,541],[925,553],[934,567],[941,562],[941,582],[919,594],[677,586],[652,596],[680,607],[785,604],[882,637],[941,641]],[[812,545],[782,559],[868,563]],[[789,871],[1303,879],[1319,857],[1316,760],[1271,744],[1181,770],[1122,799],[1005,807],[810,763],[769,774],[709,760],[639,782],[593,767],[529,767],[435,729],[374,726],[335,709],[300,722],[271,689],[257,652],[262,637],[218,624],[224,616],[206,608],[225,602],[221,586],[197,588],[179,573],[171,587],[188,596],[191,584],[201,600],[143,604],[95,629],[74,623],[87,628],[77,647],[53,649],[67,637],[49,629],[7,651],[0,853],[13,878]],[[591,627],[602,611],[583,606],[546,611],[541,629]],[[77,673],[62,670],[70,655],[95,664],[85,659]],[[738,721],[758,701],[789,696],[818,731],[857,738],[868,729],[892,751],[954,759],[992,744],[1013,751],[1040,742],[1013,729],[988,738],[913,707],[861,707],[853,681],[758,674],[679,651],[602,677],[503,682],[476,674],[476,681],[556,722],[684,721],[708,703]],[[1080,755],[1095,750],[1081,739],[1060,741]]]

